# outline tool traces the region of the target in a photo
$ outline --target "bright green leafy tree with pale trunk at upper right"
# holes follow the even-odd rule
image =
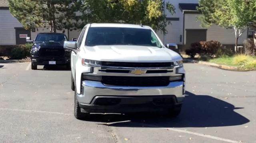
[[[200,0],[198,11],[203,27],[216,24],[233,28],[237,49],[239,37],[256,21],[256,0]]]

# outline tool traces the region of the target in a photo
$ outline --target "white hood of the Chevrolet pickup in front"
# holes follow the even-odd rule
[[[182,57],[167,48],[134,46],[134,45],[104,45],[85,46],[85,59],[116,62],[170,62],[180,61]]]

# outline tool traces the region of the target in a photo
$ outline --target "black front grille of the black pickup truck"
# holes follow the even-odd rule
[[[41,57],[63,57],[64,54],[65,54],[64,49],[41,48],[39,50],[39,56]]]

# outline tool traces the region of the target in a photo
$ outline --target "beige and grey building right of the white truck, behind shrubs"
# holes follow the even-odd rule
[[[219,41],[222,45],[234,48],[235,34],[233,29],[226,29],[217,25],[209,28],[202,28],[201,23],[197,20],[200,13],[196,10],[198,0],[164,0],[176,8],[176,13],[171,15],[168,10],[166,20],[172,24],[167,26],[168,33],[163,35],[158,32],[158,36],[163,43],[177,43],[182,47],[182,51],[190,47],[191,43],[198,41]],[[245,31],[238,40],[242,44],[247,37],[252,37],[252,32]]]

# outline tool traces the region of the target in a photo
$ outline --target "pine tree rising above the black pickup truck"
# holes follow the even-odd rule
[[[50,32],[75,29],[79,5],[76,0],[9,0],[10,13],[25,29],[50,27]]]

